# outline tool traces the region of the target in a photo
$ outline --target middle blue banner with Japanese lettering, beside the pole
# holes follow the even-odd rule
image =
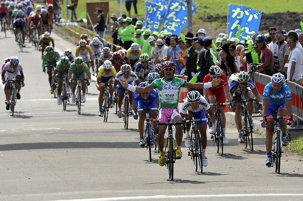
[[[192,4],[192,15],[198,6]],[[187,24],[187,5],[185,2],[171,0],[164,18],[162,30],[179,35]]]

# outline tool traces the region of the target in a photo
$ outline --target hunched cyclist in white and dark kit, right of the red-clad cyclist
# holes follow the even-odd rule
[[[249,75],[245,71],[240,71],[239,73],[232,74],[229,78],[231,83],[229,85],[229,90],[233,93],[232,100],[241,100],[241,99],[251,99],[254,98],[254,95],[257,97],[258,102],[261,100],[261,95],[256,87],[256,84],[252,79],[249,78]],[[241,107],[240,103],[235,103],[235,122],[238,130],[238,141],[243,143],[242,138],[242,120],[241,120]],[[248,110],[248,121],[252,128],[254,128],[254,122],[252,121],[252,109],[254,109],[254,103],[249,101],[247,104]]]

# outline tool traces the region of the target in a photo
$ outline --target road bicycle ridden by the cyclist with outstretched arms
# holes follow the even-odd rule
[[[176,162],[176,148],[174,142],[174,135],[173,135],[173,125],[183,125],[183,132],[185,133],[185,125],[184,121],[182,123],[173,123],[169,120],[168,123],[159,123],[157,121],[157,129],[159,130],[159,125],[167,125],[168,126],[168,136],[165,145],[165,166],[168,169],[168,176],[169,179],[172,181],[174,180],[174,163]],[[158,132],[159,133],[159,132]]]

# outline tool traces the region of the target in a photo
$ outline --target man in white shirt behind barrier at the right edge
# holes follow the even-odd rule
[[[296,32],[292,34],[288,33],[287,45],[289,47],[289,56],[288,61],[285,66],[288,66],[287,69],[287,80],[295,82],[302,85],[302,55],[299,48],[296,46],[297,35]]]

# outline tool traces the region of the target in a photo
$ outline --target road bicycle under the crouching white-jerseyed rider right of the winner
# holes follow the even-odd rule
[[[203,173],[203,147],[201,143],[201,137],[198,130],[197,122],[198,121],[207,121],[208,119],[194,119],[194,120],[186,120],[186,123],[191,123],[191,131],[190,131],[190,147],[188,148],[188,156],[190,156],[195,171]]]

